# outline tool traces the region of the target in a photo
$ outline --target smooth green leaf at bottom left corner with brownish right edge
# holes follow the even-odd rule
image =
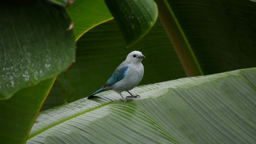
[[[0,143],[25,143],[35,118],[55,78],[23,88],[8,100],[0,101]]]

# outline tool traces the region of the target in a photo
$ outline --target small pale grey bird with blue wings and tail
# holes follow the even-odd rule
[[[139,51],[133,51],[129,53],[124,62],[122,62],[115,70],[115,72],[108,78],[106,84],[95,91],[92,95],[88,98],[92,97],[93,95],[108,90],[114,90],[122,98],[120,101],[130,101],[131,98],[140,97],[140,95],[133,95],[129,91],[137,86],[144,74],[144,67],[141,63],[142,59],[145,58]],[[127,91],[131,96],[127,96],[125,99],[121,92]]]

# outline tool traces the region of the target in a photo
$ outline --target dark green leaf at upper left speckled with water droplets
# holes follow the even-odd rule
[[[0,4],[0,99],[56,76],[75,58],[71,19],[45,0]]]

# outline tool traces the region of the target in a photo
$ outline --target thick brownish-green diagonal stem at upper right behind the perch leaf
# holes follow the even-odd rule
[[[187,76],[203,75],[197,58],[167,0],[155,0],[155,2],[158,5],[158,16],[172,41]]]

